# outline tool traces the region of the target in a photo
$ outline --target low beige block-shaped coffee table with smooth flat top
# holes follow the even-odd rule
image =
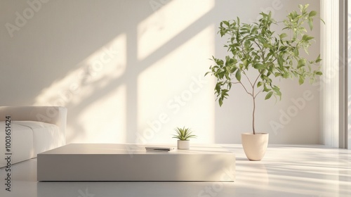
[[[216,145],[153,152],[135,144],[68,144],[38,154],[38,181],[234,182],[235,155]]]

